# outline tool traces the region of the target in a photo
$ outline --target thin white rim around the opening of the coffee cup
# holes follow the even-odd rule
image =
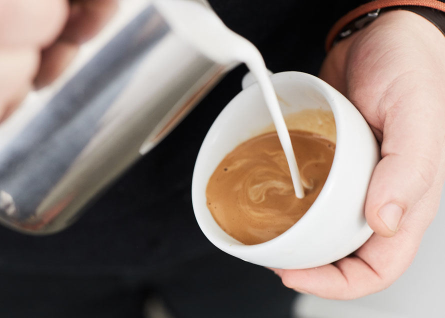
[[[223,241],[221,240],[218,235],[213,235],[213,233],[211,233],[210,231],[206,231],[204,230],[200,225],[201,222],[198,219],[199,217],[196,216],[196,220],[199,224],[199,226],[201,227],[201,230],[204,232],[205,236],[207,236],[207,238],[216,246],[218,246],[219,248],[221,248],[221,244],[219,244],[219,242],[223,243],[223,247],[222,249],[225,251],[232,251],[232,252],[248,252],[248,251],[255,251],[257,249],[264,249],[264,248],[270,248],[270,247],[274,247],[275,244],[279,244],[279,242],[281,240],[286,239],[287,236],[291,235],[290,232],[294,232],[294,231],[298,231],[299,228],[303,228],[305,226],[306,223],[309,223],[311,221],[311,219],[313,217],[316,217],[316,213],[313,213],[311,211],[313,210],[320,210],[318,205],[322,204],[320,202],[324,201],[323,199],[320,198],[324,198],[327,194],[326,192],[328,191],[328,189],[333,185],[333,172],[335,171],[337,168],[337,166],[339,165],[338,163],[338,153],[342,152],[343,150],[343,128],[342,128],[342,118],[341,118],[341,107],[339,107],[338,105],[338,98],[337,96],[335,96],[335,94],[339,94],[339,92],[333,88],[332,86],[330,86],[329,84],[327,84],[325,81],[323,81],[322,79],[308,74],[308,73],[304,73],[304,72],[299,72],[299,71],[284,71],[284,72],[279,72],[279,73],[274,73],[272,75],[270,75],[272,84],[274,84],[274,81],[276,81],[277,79],[283,78],[283,77],[287,77],[290,80],[299,80],[299,81],[303,81],[305,84],[309,84],[310,86],[312,86],[313,89],[315,89],[317,92],[319,92],[321,94],[321,96],[323,96],[323,98],[325,99],[325,101],[327,102],[330,110],[332,111],[333,117],[334,117],[334,122],[335,122],[335,132],[336,132],[336,140],[335,140],[335,152],[334,152],[334,156],[333,156],[333,160],[332,160],[332,164],[331,167],[329,169],[329,173],[327,175],[326,181],[324,182],[323,187],[321,188],[319,194],[317,195],[317,197],[315,198],[315,200],[313,201],[313,203],[311,204],[311,206],[307,209],[307,211],[301,216],[301,218],[296,221],[292,226],[290,226],[287,230],[285,230],[283,233],[279,234],[278,236],[269,239],[265,242],[262,243],[258,243],[258,244],[251,244],[251,245],[246,245],[242,242],[239,242],[238,240],[236,240],[235,238],[232,237],[232,239],[236,240],[237,242],[239,242],[238,244],[226,244],[227,241]],[[252,83],[251,85],[249,85],[248,87],[246,87],[245,89],[241,90],[236,96],[238,96],[240,93],[243,94],[248,94],[251,93],[249,91],[253,90],[253,89],[258,89],[258,83]],[[256,88],[255,88],[256,87]],[[221,111],[221,113],[218,115],[218,117],[222,114],[222,112],[224,110],[227,109],[227,106],[236,98],[233,97],[229,103],[224,107],[224,109]],[[216,123],[218,117],[215,119],[215,121],[213,122],[213,124],[211,125],[210,129],[212,129],[213,125]],[[209,131],[210,131],[209,129]],[[207,132],[208,133],[208,132]],[[205,142],[205,139],[203,141],[203,143]],[[201,150],[199,150],[200,152]],[[199,156],[199,153],[198,153]],[[194,172],[193,172],[194,174]],[[208,182],[208,180],[207,180]],[[193,186],[194,182],[192,181],[192,186]],[[193,196],[193,191],[192,191],[192,196]],[[207,212],[211,214],[211,212],[208,210],[208,208],[206,207]],[[219,225],[218,225],[219,226]],[[222,228],[221,228],[222,230]],[[227,234],[228,235],[228,234]],[[229,235],[230,236],[230,235]],[[231,237],[231,236],[230,236]]]

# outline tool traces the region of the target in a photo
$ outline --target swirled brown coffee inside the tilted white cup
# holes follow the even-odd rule
[[[313,110],[286,118],[325,132],[289,131],[301,177],[313,185],[305,189],[303,199],[295,196],[276,132],[241,143],[213,172],[206,189],[207,206],[219,226],[238,241],[250,245],[278,236],[300,219],[317,197],[332,164],[335,135],[332,129],[323,128],[333,121],[331,112],[316,112],[318,119],[313,118]]]

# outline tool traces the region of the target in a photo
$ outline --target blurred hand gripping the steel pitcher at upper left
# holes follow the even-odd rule
[[[116,5],[116,0],[1,1],[0,122],[30,89],[58,76]]]

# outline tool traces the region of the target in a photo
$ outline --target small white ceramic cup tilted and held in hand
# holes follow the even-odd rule
[[[326,182],[307,212],[281,235],[245,245],[225,233],[206,204],[208,179],[227,153],[261,134],[272,119],[256,83],[243,89],[221,111],[202,142],[192,180],[192,202],[204,235],[221,250],[243,260],[276,268],[309,268],[353,252],[372,234],[364,200],[379,147],[358,110],[321,79],[288,71],[270,76],[284,117],[304,109],[331,110],[336,147]]]

